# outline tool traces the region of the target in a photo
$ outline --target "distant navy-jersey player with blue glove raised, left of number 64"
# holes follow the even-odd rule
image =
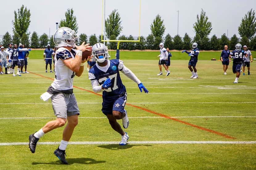
[[[196,79],[198,78],[197,70],[196,70],[196,63],[197,63],[197,57],[199,55],[199,49],[197,48],[197,43],[194,42],[192,44],[192,50],[188,52],[187,50],[183,50],[183,52],[186,52],[188,56],[190,56],[190,60],[188,62],[188,68],[192,73],[192,76],[190,78]],[[193,71],[194,69],[194,71]]]

